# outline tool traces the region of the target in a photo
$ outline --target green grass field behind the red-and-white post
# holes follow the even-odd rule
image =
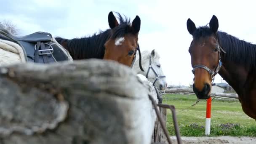
[[[176,107],[176,115],[181,136],[204,136],[206,101],[197,100],[195,95],[165,94],[163,103]],[[175,135],[170,110],[167,111],[167,128],[170,135]],[[256,136],[256,121],[242,110],[238,100],[214,99],[211,105],[211,136]]]

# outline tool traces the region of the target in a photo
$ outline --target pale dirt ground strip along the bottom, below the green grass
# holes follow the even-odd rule
[[[177,144],[176,136],[171,136],[173,144]],[[256,144],[256,137],[181,137],[182,144]]]

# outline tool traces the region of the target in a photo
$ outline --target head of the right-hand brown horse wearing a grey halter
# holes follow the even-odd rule
[[[189,47],[193,74],[195,75],[193,91],[198,99],[208,99],[211,94],[211,82],[221,67],[217,31],[219,22],[213,15],[209,27],[196,28],[191,19],[187,20],[187,29],[193,36]]]

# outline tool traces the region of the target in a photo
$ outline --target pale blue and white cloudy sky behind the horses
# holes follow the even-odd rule
[[[109,29],[110,11],[131,20],[138,15],[141,51],[160,53],[168,85],[189,85],[194,76],[187,19],[199,27],[215,15],[219,30],[256,43],[255,4],[253,0],[0,0],[0,21],[12,21],[20,35],[43,31],[70,39]],[[221,82],[217,75],[215,83]]]

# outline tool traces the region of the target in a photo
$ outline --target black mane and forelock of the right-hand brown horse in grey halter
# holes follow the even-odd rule
[[[209,27],[203,26],[197,28],[193,33],[193,38],[212,36],[213,32]],[[224,49],[226,54],[221,59],[234,61],[237,64],[243,64],[252,70],[256,70],[256,45],[239,40],[237,37],[227,34],[226,32],[217,32],[219,45]]]

